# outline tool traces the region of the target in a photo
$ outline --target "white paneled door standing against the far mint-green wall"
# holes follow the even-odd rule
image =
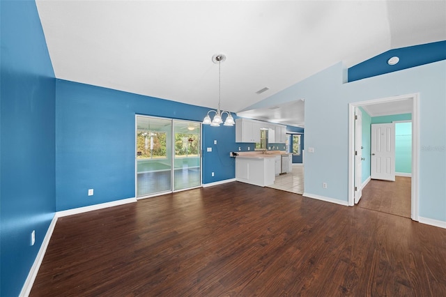
[[[371,178],[395,181],[395,124],[371,125]]]

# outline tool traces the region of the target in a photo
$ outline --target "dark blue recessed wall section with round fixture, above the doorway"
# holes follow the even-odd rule
[[[389,65],[387,61],[392,56],[398,56],[399,63]],[[358,79],[391,73],[445,59],[446,40],[438,41],[436,43],[426,43],[424,45],[401,47],[399,49],[383,52],[383,54],[379,54],[378,56],[374,56],[371,59],[348,68],[348,82],[354,82]]]

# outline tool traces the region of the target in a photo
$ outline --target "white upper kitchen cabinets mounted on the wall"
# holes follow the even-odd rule
[[[259,143],[260,130],[268,129],[268,143],[285,143],[286,126],[252,119],[236,119],[236,142]]]

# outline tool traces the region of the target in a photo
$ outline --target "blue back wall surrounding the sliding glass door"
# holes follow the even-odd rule
[[[57,79],[56,210],[135,197],[135,114],[201,122],[207,112],[205,107]],[[203,125],[203,183],[235,178],[235,161],[229,157],[240,146],[235,133],[235,126]],[[89,188],[93,196],[88,196]]]

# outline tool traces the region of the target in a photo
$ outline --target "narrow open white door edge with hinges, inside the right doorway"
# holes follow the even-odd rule
[[[362,196],[362,112],[355,107],[355,203]]]

